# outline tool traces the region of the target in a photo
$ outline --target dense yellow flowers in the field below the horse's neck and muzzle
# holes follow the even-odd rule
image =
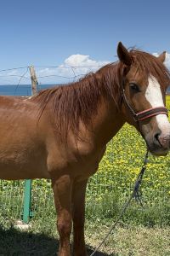
[[[96,200],[111,190],[121,197],[129,194],[133,183],[143,165],[146,147],[142,137],[130,125],[122,130],[108,144],[106,154],[99,166],[99,172],[91,178],[88,189]],[[163,192],[162,200],[170,199],[170,156],[154,157],[149,155],[149,163],[142,183],[146,200]],[[98,196],[99,195],[99,196]]]

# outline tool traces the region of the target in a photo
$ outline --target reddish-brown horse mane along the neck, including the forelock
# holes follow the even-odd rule
[[[147,80],[148,76],[152,75],[162,88],[165,88],[165,84],[170,84],[170,73],[155,56],[136,49],[131,49],[129,53],[135,66],[144,73],[144,79]],[[76,135],[80,119],[82,124],[87,126],[97,113],[103,97],[112,97],[117,111],[121,108],[120,84],[124,67],[120,61],[107,64],[77,82],[41,90],[31,101],[39,103],[39,117],[50,105],[55,130],[61,136],[66,137],[69,129]]]

